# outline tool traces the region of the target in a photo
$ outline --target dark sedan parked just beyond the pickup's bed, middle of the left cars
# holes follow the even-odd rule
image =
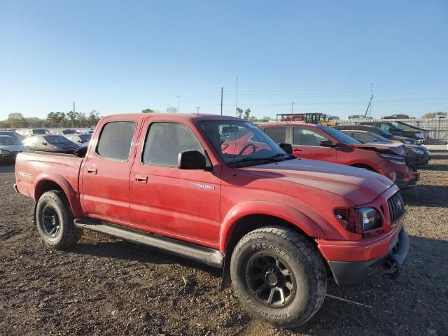
[[[25,146],[31,148],[31,151],[45,151],[55,153],[73,153],[78,149],[78,145],[62,137],[62,135],[35,135],[23,141]]]

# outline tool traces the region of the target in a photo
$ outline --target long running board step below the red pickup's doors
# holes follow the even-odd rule
[[[222,268],[224,265],[223,253],[214,248],[190,244],[185,241],[162,237],[148,232],[132,230],[113,225],[112,223],[95,221],[90,218],[77,218],[73,223],[76,228],[101,232],[105,235],[130,241],[135,244],[160,248],[163,251],[196,260],[213,267]]]

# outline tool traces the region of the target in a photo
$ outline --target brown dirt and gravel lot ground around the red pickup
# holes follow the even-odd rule
[[[330,279],[322,309],[295,330],[251,318],[216,270],[151,248],[85,232],[50,251],[13,181],[0,167],[0,335],[448,335],[448,151],[403,193],[411,248],[400,278],[345,289]]]

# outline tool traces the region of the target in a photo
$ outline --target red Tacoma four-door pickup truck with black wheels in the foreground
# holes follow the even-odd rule
[[[20,153],[15,190],[36,201],[50,248],[83,230],[154,246],[222,267],[253,315],[300,325],[328,276],[342,286],[376,269],[396,275],[409,242],[391,180],[282,148],[238,118],[109,116],[78,156]]]

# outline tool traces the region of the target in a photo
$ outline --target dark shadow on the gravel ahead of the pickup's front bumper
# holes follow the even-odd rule
[[[409,255],[398,279],[374,274],[351,288],[339,288],[330,279],[321,310],[291,331],[316,336],[423,335],[433,329],[442,335],[448,319],[434,316],[448,311],[448,269],[441,267],[448,241],[415,236],[409,241]]]

